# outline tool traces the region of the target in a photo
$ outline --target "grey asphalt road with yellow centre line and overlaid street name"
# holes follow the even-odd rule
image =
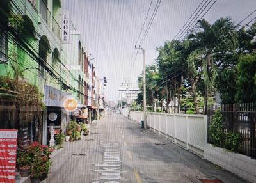
[[[246,182],[173,144],[138,123],[109,115],[92,124],[90,136],[65,143],[53,158],[50,182]]]

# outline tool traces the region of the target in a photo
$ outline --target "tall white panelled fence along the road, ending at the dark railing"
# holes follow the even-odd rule
[[[132,120],[141,122],[143,113],[131,111]],[[147,113],[147,125],[154,132],[204,157],[207,143],[207,115]]]

